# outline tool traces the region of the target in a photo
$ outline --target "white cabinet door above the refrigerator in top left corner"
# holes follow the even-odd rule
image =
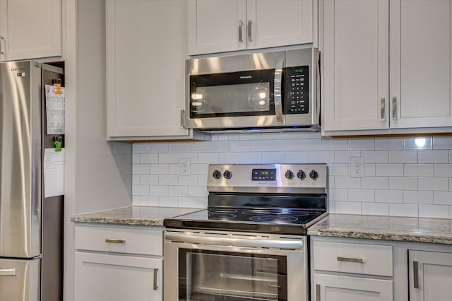
[[[0,59],[61,56],[61,0],[1,0]]]

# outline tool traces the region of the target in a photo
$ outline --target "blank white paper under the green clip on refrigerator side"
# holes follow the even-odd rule
[[[44,198],[64,194],[64,148],[44,149]]]

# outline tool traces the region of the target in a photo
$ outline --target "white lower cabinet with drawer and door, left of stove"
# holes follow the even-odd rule
[[[162,228],[76,225],[76,301],[161,301]]]

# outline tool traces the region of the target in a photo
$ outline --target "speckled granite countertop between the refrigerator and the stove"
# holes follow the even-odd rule
[[[71,220],[76,223],[163,226],[163,220],[165,218],[174,218],[200,210],[203,209],[128,206],[71,216]]]

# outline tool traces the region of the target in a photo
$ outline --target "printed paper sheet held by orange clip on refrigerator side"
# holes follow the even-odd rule
[[[45,85],[47,135],[64,134],[64,88]]]

